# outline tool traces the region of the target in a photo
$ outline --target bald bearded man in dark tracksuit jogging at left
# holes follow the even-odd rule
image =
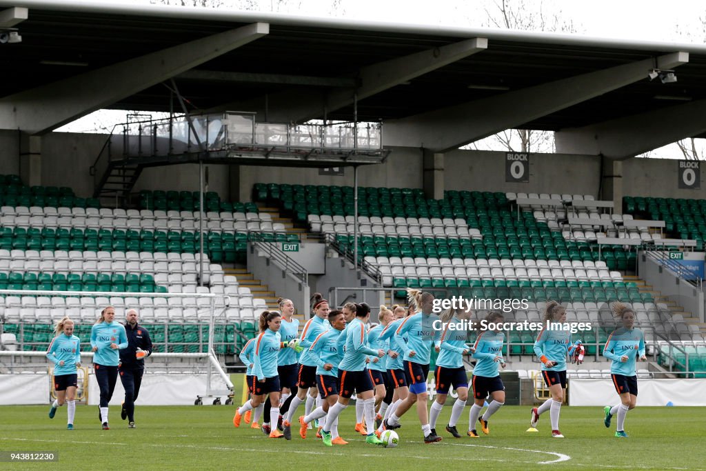
[[[125,401],[120,414],[121,419],[129,420],[128,428],[135,428],[135,401],[140,393],[142,375],[145,372],[145,360],[137,357],[138,349],[144,350],[146,356],[152,354],[150,333],[138,325],[138,315],[135,309],[126,313],[125,333],[128,336],[128,347],[120,350],[120,365],[118,372],[125,389]]]

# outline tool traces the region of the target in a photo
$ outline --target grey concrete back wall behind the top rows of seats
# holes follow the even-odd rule
[[[107,135],[88,133],[49,133],[42,138],[42,184],[71,186],[78,196],[90,196],[93,177],[88,173]],[[16,131],[0,131],[0,173],[20,172],[20,136]],[[525,193],[581,193],[598,196],[601,159],[596,155],[532,154],[530,181],[505,182],[504,152],[453,150],[444,156],[445,189],[514,191]],[[251,201],[254,183],[352,185],[353,170],[343,176],[320,175],[319,169],[296,167],[229,167],[210,165],[210,191],[223,198]],[[384,165],[359,169],[362,186],[423,188],[423,151],[419,148],[392,148]],[[628,159],[623,161],[623,194],[664,198],[706,198],[706,181],[701,189],[678,189],[674,160]],[[702,177],[702,180],[705,178]],[[135,191],[140,189],[198,189],[196,165],[184,164],[145,169]]]

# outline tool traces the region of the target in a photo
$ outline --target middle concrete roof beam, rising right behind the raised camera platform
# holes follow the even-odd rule
[[[488,47],[488,40],[476,37],[448,44],[434,49],[398,57],[361,68],[357,76],[357,88],[343,88],[321,93],[316,90],[285,90],[280,93],[268,95],[268,121],[300,123],[309,119],[323,117],[325,112],[351,105],[354,95],[358,100],[393,88],[407,81],[436,70],[437,68],[452,64]],[[224,111],[226,109],[249,109],[263,112],[263,98],[247,100],[244,102],[228,103],[216,107],[211,111]],[[258,117],[264,120],[264,116]]]

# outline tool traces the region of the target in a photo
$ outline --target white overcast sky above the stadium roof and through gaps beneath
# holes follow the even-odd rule
[[[102,1],[102,0],[93,0]],[[124,4],[181,4],[181,0],[107,0]],[[193,4],[193,0],[185,0]],[[304,16],[329,16],[393,23],[451,25],[481,28],[499,18],[501,0],[207,0],[220,8],[277,11]],[[700,0],[510,0],[522,16],[539,18],[548,25],[571,25],[575,34],[628,40],[706,42],[706,1]],[[193,8],[193,7],[183,7]],[[100,131],[124,122],[125,111],[100,110],[57,131]],[[702,140],[700,140],[702,141]],[[489,138],[477,148],[496,148]],[[706,145],[699,143],[706,155]],[[683,158],[676,145],[650,153],[651,157]]]

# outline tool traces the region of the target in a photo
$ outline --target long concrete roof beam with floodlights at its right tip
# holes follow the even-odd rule
[[[689,54],[657,58],[659,68],[686,64]],[[424,147],[443,152],[478,141],[647,78],[654,59],[564,78],[494,97],[462,103],[385,123],[384,145]]]

